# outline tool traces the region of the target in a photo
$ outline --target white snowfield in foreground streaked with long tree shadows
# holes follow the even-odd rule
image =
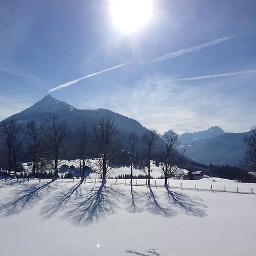
[[[256,184],[61,181],[0,181],[1,256],[256,255]]]

